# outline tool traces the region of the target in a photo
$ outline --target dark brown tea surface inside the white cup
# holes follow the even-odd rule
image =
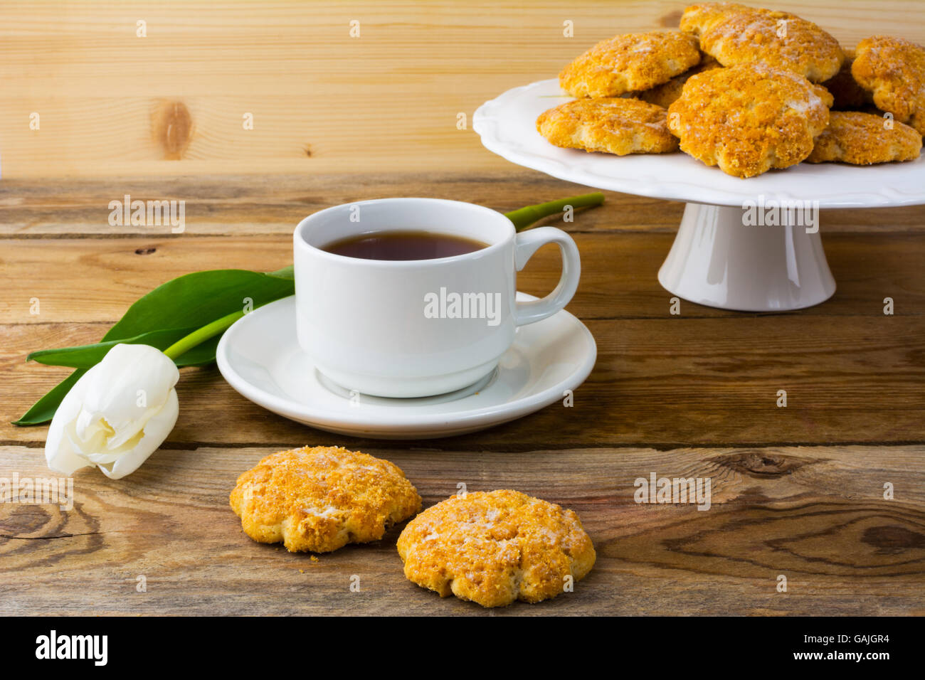
[[[376,231],[333,241],[321,250],[363,260],[435,260],[473,253],[487,243],[433,231]]]

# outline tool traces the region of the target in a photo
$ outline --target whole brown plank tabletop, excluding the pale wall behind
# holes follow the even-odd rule
[[[47,476],[46,427],[8,421],[67,370],[26,364],[30,350],[97,340],[143,292],[194,269],[285,266],[294,222],[328,204],[420,193],[505,210],[583,191],[516,169],[504,179],[82,180],[58,182],[59,194],[5,182],[0,476]],[[129,184],[185,196],[187,232],[114,232],[105,206]],[[817,307],[752,315],[682,303],[671,315],[655,274],[680,206],[608,193],[559,223],[584,260],[570,309],[598,340],[575,405],[462,437],[331,435],[247,402],[214,368],[184,369],[179,423],[137,473],[79,473],[70,512],[0,505],[0,612],[484,613],[407,582],[398,529],[318,562],[241,533],[228,509],[240,472],[281,448],[339,444],[399,464],[427,505],[463,482],[580,514],[598,547],[591,575],[567,596],[492,613],[925,613],[923,216],[823,212],[839,288]],[[544,251],[521,288],[541,293],[556,277]],[[637,505],[633,482],[651,472],[711,477],[711,509]]]

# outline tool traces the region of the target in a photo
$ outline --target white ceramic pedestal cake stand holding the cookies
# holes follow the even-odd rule
[[[681,153],[561,149],[536,132],[536,117],[569,99],[557,80],[539,80],[481,105],[473,127],[512,163],[597,189],[685,201],[659,281],[694,303],[748,312],[819,304],[835,291],[819,208],[925,204],[923,157],[870,167],[803,163],[738,179]]]

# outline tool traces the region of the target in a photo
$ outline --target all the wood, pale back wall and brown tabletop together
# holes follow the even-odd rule
[[[872,32],[925,42],[922,2],[774,6],[848,46]],[[509,210],[586,191],[488,153],[457,114],[612,33],[675,25],[682,7],[0,6],[0,476],[47,476],[46,427],[8,423],[67,372],[25,355],[98,340],[169,278],[285,266],[294,224],[332,204],[425,195]],[[186,232],[109,226],[125,193],[185,200]],[[655,277],[682,208],[608,193],[560,224],[584,261],[570,310],[599,352],[573,408],[377,442],[296,425],[215,369],[184,369],[178,425],[137,473],[79,473],[70,512],[0,504],[0,613],[485,613],[406,581],[398,529],[317,562],[244,536],[228,509],[236,476],[303,444],[386,457],[425,505],[465,482],[578,512],[598,549],[591,574],[494,614],[925,613],[925,208],[824,212],[827,303],[781,315],[682,303],[674,316]],[[557,277],[544,250],[520,288]],[[635,504],[650,472],[710,476],[712,508]]]

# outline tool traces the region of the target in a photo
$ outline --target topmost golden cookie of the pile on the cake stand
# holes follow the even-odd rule
[[[704,3],[685,9],[681,30],[697,36],[700,49],[725,67],[760,61],[821,82],[845,60],[832,35],[789,12]]]

